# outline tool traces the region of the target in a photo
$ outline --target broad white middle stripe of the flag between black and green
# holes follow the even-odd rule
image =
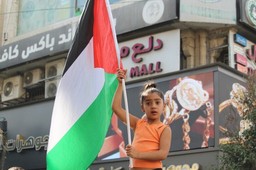
[[[61,78],[53,107],[47,153],[93,103],[104,82],[104,69],[94,68],[92,38]]]

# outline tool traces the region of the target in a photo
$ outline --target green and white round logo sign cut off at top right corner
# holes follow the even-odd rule
[[[256,1],[248,0],[245,4],[245,13],[247,20],[253,26],[256,25]]]

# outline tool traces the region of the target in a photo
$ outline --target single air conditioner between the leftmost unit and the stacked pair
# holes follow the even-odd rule
[[[23,87],[36,84],[39,80],[44,78],[44,70],[37,68],[24,73]]]

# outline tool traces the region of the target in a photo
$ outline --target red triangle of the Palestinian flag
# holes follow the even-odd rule
[[[118,68],[117,51],[105,0],[94,2],[93,41],[94,67],[115,74]]]

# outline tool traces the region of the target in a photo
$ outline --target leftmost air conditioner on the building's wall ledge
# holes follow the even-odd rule
[[[13,76],[4,80],[2,102],[19,98],[26,91],[23,87],[23,76]]]

